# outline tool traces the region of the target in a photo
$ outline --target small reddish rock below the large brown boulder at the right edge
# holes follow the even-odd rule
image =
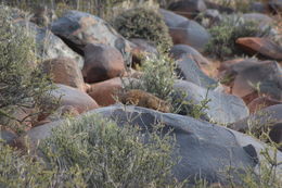
[[[269,97],[259,97],[254,99],[252,102],[249,102],[247,106],[249,113],[255,113],[261,109],[265,109],[270,105],[275,105],[275,104],[282,104],[282,101],[274,100]]]

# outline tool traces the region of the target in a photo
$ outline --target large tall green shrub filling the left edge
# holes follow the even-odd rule
[[[10,9],[0,12],[0,122],[16,118],[13,112],[40,112],[50,97],[52,83],[37,67],[35,41],[23,27],[13,24]],[[47,100],[50,99],[50,100]],[[51,102],[52,103],[52,102]],[[27,114],[31,115],[31,114]],[[17,120],[23,121],[23,120]],[[3,123],[7,125],[7,123]]]

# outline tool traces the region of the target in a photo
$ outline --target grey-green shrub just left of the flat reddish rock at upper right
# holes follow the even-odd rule
[[[220,59],[241,54],[235,46],[235,40],[241,37],[262,37],[269,35],[270,28],[261,29],[258,23],[244,22],[241,17],[227,17],[219,25],[209,29],[211,39],[205,48],[205,52]]]

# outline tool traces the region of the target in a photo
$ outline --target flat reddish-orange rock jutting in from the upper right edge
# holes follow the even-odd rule
[[[236,45],[249,55],[258,54],[271,60],[282,60],[282,47],[267,38],[244,37],[236,39]]]

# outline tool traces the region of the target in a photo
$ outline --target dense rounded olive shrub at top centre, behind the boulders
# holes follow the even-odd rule
[[[113,25],[124,37],[146,39],[164,51],[168,51],[172,45],[168,27],[153,9],[127,10],[114,20]]]

